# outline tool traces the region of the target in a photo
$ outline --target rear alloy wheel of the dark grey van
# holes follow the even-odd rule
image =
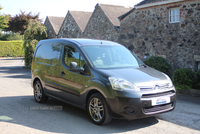
[[[36,81],[34,83],[34,98],[38,103],[46,102],[48,100],[48,96],[45,96],[44,90],[42,88],[42,84],[40,81]]]

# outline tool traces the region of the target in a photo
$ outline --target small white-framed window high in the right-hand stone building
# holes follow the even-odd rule
[[[169,9],[169,23],[180,22],[180,8]]]

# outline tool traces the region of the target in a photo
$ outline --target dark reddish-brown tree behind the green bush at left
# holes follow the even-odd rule
[[[20,14],[15,15],[14,17],[9,18],[8,22],[8,28],[5,28],[5,31],[12,31],[15,33],[20,33],[21,35],[24,34],[24,32],[27,29],[29,20],[37,20],[41,22],[39,19],[39,13],[36,15],[33,15],[32,12],[29,12],[26,14],[26,12],[20,11]]]

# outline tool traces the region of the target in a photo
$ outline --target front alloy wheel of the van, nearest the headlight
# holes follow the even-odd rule
[[[107,104],[101,94],[95,93],[90,96],[87,103],[90,119],[94,124],[108,124],[112,118],[108,112]]]

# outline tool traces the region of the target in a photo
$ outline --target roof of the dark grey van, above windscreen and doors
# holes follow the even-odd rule
[[[84,38],[58,38],[41,40],[38,44],[43,43],[75,43],[78,46],[90,45],[120,45],[119,43],[97,39],[84,39]]]

